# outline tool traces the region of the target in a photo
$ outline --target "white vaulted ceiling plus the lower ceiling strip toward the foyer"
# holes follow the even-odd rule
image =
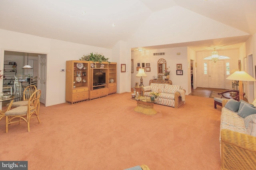
[[[256,0],[1,0],[0,29],[112,48],[118,41],[128,39],[153,12],[172,10],[172,6],[181,6],[250,35],[256,33]],[[147,48],[190,46],[196,51],[212,50],[216,44],[229,48],[248,37]]]

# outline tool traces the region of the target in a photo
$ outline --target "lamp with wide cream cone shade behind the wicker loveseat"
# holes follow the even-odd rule
[[[245,71],[235,71],[226,79],[239,81],[239,100],[244,100],[243,81],[256,81],[255,78],[247,74]]]

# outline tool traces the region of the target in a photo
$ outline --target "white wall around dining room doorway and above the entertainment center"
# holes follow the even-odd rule
[[[66,70],[67,60],[79,60],[80,57],[92,52],[103,54],[106,58],[112,60],[112,50],[66,41],[47,39],[6,31],[0,29],[0,67],[3,69],[4,51],[21,51],[29,53],[47,54],[47,79],[46,79],[46,106],[65,103],[65,80],[66,73],[60,72],[60,69]],[[0,80],[2,84],[2,79]],[[2,86],[0,85],[0,90]]]

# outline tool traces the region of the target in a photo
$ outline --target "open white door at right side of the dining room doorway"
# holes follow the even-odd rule
[[[38,75],[38,89],[42,91],[40,102],[45,104],[46,100],[46,55],[38,55],[39,58],[39,75]]]

